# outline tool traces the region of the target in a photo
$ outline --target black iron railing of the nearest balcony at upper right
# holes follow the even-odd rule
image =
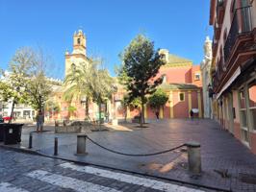
[[[231,23],[231,28],[227,36],[224,46],[224,60],[227,61],[230,57],[233,46],[239,36],[251,32],[251,12],[250,7],[237,9]]]

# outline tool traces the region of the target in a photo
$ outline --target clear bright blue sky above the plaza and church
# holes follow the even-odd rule
[[[209,26],[210,0],[0,0],[0,68],[22,46],[41,47],[64,78],[64,51],[82,27],[88,54],[100,56],[115,75],[118,54],[143,33],[171,54],[199,64]]]

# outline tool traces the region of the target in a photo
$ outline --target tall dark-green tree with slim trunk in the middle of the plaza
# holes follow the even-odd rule
[[[156,86],[162,83],[162,78],[155,79],[159,68],[164,64],[158,51],[154,50],[154,43],[147,37],[136,36],[125,48],[121,55],[123,66],[119,77],[123,78],[130,100],[141,100],[141,127],[144,123],[144,104],[146,95],[155,92]],[[125,80],[126,79],[126,80]]]

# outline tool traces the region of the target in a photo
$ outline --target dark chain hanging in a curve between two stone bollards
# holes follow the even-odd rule
[[[98,144],[97,142],[93,141],[88,135],[87,135],[87,138],[90,140],[91,143],[93,143],[94,145],[104,149],[104,150],[107,150],[109,152],[112,152],[114,154],[118,154],[118,155],[122,155],[122,156],[157,156],[157,155],[161,155],[161,154],[166,154],[168,152],[171,152],[171,151],[174,151],[174,150],[177,150],[179,148],[182,148],[184,146],[186,146],[186,144],[182,144],[182,145],[179,145],[177,147],[174,147],[174,148],[171,148],[171,149],[168,149],[168,150],[165,150],[165,151],[161,151],[161,152],[157,152],[157,153],[152,153],[152,154],[126,154],[126,153],[121,153],[121,152],[116,152],[115,150],[112,150],[112,149],[109,149],[109,148],[106,148],[100,144]]]

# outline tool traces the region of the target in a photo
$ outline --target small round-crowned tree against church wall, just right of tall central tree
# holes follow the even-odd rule
[[[148,98],[149,107],[152,108],[155,112],[159,112],[160,108],[163,108],[167,101],[168,96],[162,89],[157,89],[157,91]]]

